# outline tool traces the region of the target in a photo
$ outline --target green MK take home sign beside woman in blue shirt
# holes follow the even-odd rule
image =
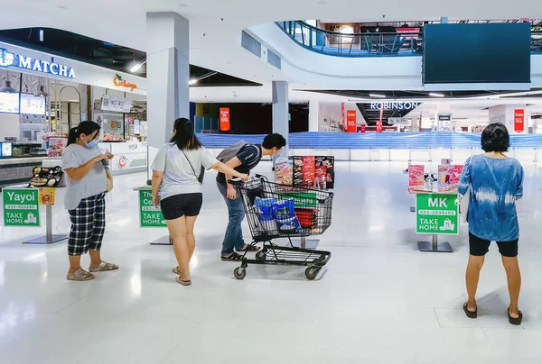
[[[416,195],[416,233],[457,235],[459,206],[455,194]]]

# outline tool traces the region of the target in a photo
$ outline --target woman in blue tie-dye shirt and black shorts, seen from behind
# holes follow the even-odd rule
[[[475,296],[480,271],[491,241],[496,241],[508,278],[509,323],[520,324],[523,314],[518,308],[521,274],[516,201],[523,196],[523,168],[517,159],[503,154],[509,149],[509,141],[505,125],[489,125],[481,134],[485,154],[468,159],[460,178],[459,195],[464,196],[470,188],[467,221],[471,255],[466,273],[469,301],[463,310],[468,317],[477,317]]]

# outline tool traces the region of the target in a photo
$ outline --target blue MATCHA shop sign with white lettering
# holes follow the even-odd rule
[[[75,70],[61,63],[43,59],[33,59],[21,54],[10,52],[5,48],[0,48],[0,67],[24,68],[34,72],[45,73],[48,75],[75,78]]]

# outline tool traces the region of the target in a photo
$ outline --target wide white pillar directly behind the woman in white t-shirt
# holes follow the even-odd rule
[[[175,119],[190,118],[189,23],[176,13],[147,13],[146,30],[147,141],[160,148]]]

